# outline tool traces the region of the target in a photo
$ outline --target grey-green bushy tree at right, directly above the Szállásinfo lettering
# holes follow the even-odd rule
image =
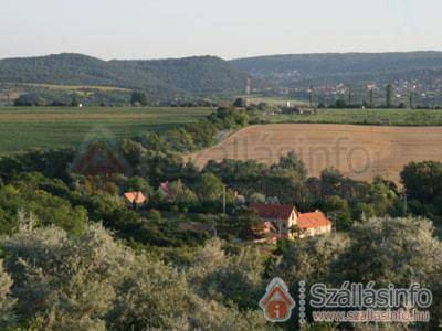
[[[434,236],[430,221],[422,218],[371,218],[349,232],[350,245],[333,264],[330,280],[368,284],[377,287],[409,288],[411,282],[433,292],[430,329],[436,330],[442,313],[440,286],[442,242]]]

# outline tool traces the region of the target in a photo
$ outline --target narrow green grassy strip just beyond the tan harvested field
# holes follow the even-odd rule
[[[269,122],[442,126],[442,110],[318,109],[313,115],[262,115],[261,119]]]

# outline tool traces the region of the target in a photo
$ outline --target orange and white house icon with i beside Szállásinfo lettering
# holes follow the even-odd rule
[[[295,300],[288,292],[288,287],[285,282],[276,277],[269,284],[266,293],[260,300],[260,307],[269,321],[285,322],[292,316]]]

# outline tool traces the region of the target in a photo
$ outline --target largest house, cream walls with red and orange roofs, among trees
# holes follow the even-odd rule
[[[332,232],[333,223],[320,212],[299,213],[296,207],[288,204],[252,203],[264,224],[264,232],[269,237],[295,238],[326,234]]]

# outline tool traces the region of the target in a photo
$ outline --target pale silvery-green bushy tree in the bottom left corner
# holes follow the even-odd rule
[[[78,237],[22,226],[2,247],[20,319],[35,329],[105,330],[115,282],[133,256],[101,225]]]

